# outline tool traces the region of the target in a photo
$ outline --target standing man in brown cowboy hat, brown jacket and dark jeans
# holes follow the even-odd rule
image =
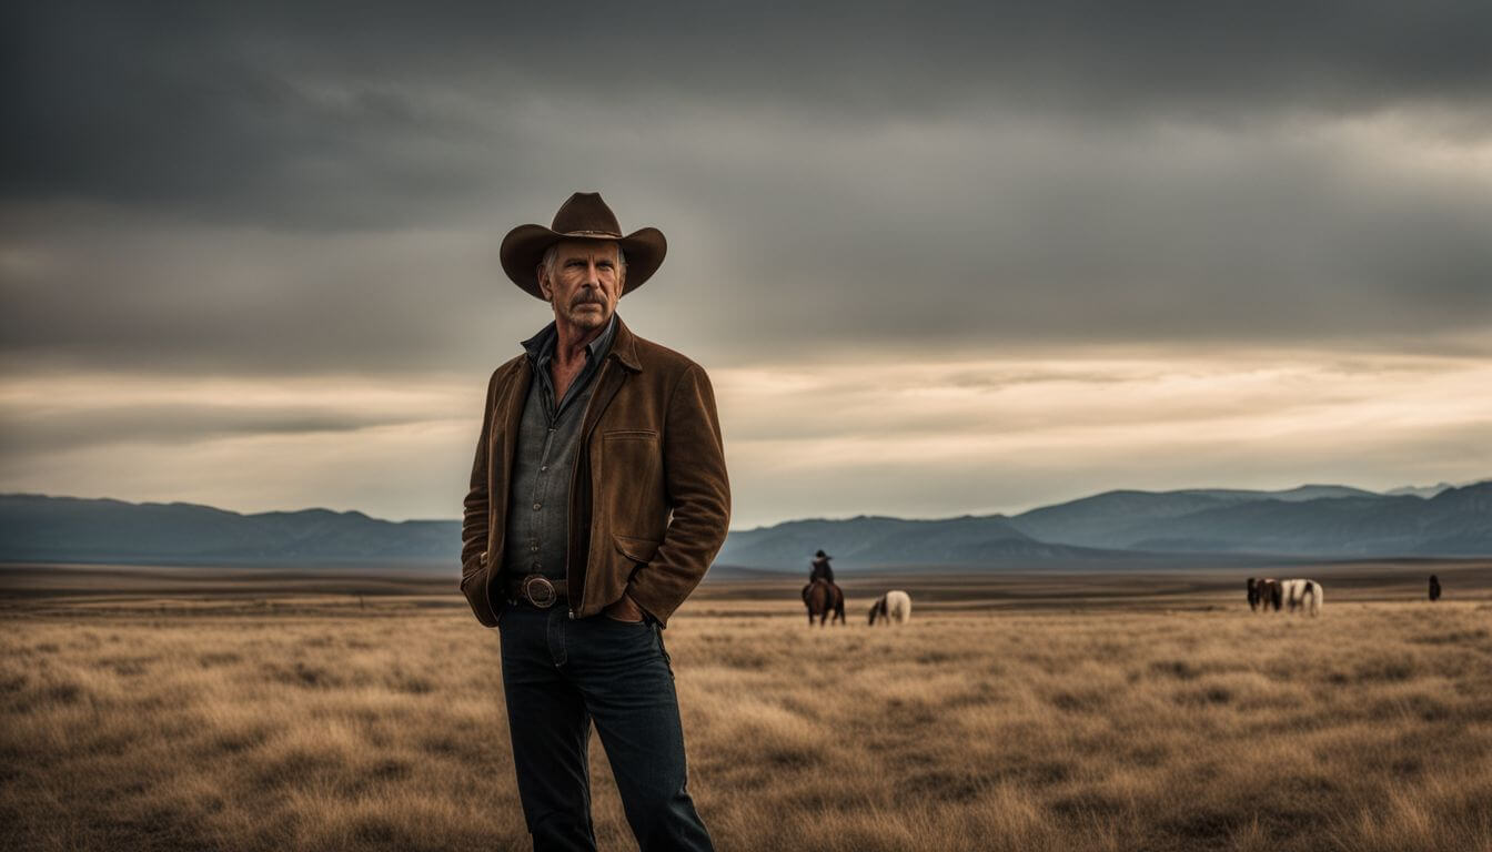
[[[591,722],[642,849],[712,849],[686,789],[662,645],[725,540],[715,394],[689,358],[637,337],[618,300],[662,263],[595,192],[500,251],[554,322],[486,386],[461,524],[461,591],[501,636],[513,767],[534,849],[595,849]]]

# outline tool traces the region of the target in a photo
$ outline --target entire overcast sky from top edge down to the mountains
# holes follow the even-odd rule
[[[0,491],[458,516],[577,189],[737,528],[1492,476],[1486,3],[148,6],[0,12]]]

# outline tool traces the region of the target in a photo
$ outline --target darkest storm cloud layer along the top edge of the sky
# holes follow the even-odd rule
[[[4,24],[7,197],[301,227],[452,215],[586,139],[665,146],[701,110],[812,145],[970,115],[1404,104],[1485,133],[1492,103],[1482,3],[21,3]]]

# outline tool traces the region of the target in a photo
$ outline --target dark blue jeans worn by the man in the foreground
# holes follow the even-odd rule
[[[536,851],[595,849],[591,722],[643,852],[713,849],[686,789],[683,727],[661,628],[565,606],[503,609],[503,692]]]

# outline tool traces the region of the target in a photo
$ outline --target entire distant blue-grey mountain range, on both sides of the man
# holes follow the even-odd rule
[[[1341,485],[1288,491],[1107,491],[1021,515],[935,521],[861,515],[731,531],[716,564],[798,570],[822,548],[837,566],[1119,563],[1188,555],[1486,557],[1492,480],[1376,494]],[[1432,491],[1420,497],[1422,491]],[[240,515],[189,503],[0,495],[0,561],[454,566],[458,521],[391,522],[306,509]]]

